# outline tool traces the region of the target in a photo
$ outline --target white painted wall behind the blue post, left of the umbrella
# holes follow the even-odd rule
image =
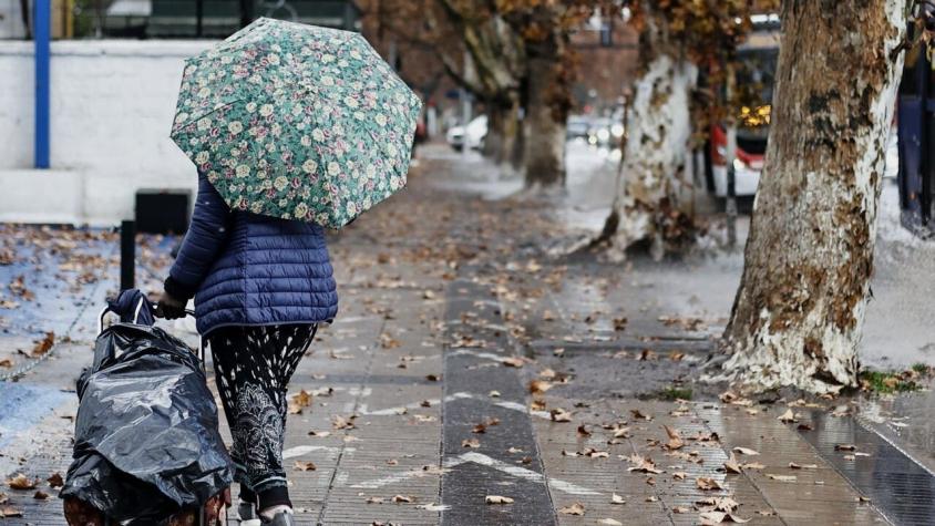
[[[205,41],[52,43],[51,163],[32,177],[31,42],[0,42],[0,220],[113,224],[133,215],[140,188],[196,186],[168,138],[183,60]],[[65,177],[68,184],[54,183]],[[50,192],[81,190],[81,196]],[[63,206],[72,209],[62,209]],[[44,219],[43,219],[44,218]]]

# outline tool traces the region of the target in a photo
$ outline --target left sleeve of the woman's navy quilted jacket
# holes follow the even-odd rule
[[[165,280],[166,292],[183,300],[195,296],[227,241],[230,219],[232,213],[224,198],[207,177],[199,176],[192,224]]]

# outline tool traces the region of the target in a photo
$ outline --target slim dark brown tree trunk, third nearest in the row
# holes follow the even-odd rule
[[[527,188],[565,186],[565,120],[562,61],[554,42],[537,45],[528,59],[523,117],[523,173]]]

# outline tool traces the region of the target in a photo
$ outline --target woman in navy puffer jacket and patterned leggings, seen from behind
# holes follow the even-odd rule
[[[338,310],[320,226],[232,212],[202,174],[188,234],[157,312],[185,316],[214,357],[246,526],[295,524],[282,467],[289,379]]]

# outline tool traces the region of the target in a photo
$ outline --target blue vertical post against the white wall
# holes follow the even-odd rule
[[[52,0],[33,2],[32,34],[35,43],[35,167],[49,167],[49,40]]]

